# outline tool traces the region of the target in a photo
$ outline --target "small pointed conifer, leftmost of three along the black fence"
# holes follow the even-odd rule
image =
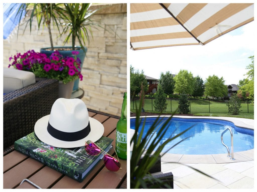
[[[156,111],[159,111],[160,113],[165,111],[167,108],[166,94],[164,93],[161,85],[158,85],[158,90],[155,95],[153,106],[154,106],[154,109]]]

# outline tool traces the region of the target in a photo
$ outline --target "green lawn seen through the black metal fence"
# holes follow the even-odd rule
[[[148,112],[154,112],[155,111],[154,106],[154,99],[151,98],[145,98],[144,100],[144,110]],[[131,102],[130,108],[136,109],[136,105],[139,105],[139,100],[136,100],[134,102]],[[178,108],[178,100],[172,99],[167,100],[167,109],[165,113],[172,113],[176,111]],[[241,103],[241,116],[248,116],[247,113],[253,114],[254,112],[254,105],[249,103]],[[190,101],[190,112],[193,114],[204,114],[205,116],[209,116],[212,114],[216,114],[215,116],[221,116],[221,114],[229,114],[228,107],[226,106],[226,102],[219,101],[219,100],[202,100],[202,99],[195,99]],[[250,115],[251,116],[251,115]],[[243,117],[248,118],[248,117]],[[253,118],[253,115],[252,115]]]

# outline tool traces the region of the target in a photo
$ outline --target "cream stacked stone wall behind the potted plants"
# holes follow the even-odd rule
[[[93,30],[93,39],[87,46],[88,51],[82,68],[83,81],[79,87],[85,92],[82,100],[87,107],[97,111],[121,114],[123,93],[127,87],[127,5],[97,5],[101,8],[92,17],[101,27]],[[50,47],[47,28],[38,30],[36,20],[30,34],[29,26],[23,34],[24,25],[20,26],[4,40],[4,67],[10,64],[9,57],[17,52],[24,53],[34,49]],[[23,34],[23,35],[22,35]],[[52,30],[54,46],[62,46],[65,37],[59,37],[56,27]],[[78,42],[76,43],[77,45]],[[71,46],[71,42],[67,44]]]

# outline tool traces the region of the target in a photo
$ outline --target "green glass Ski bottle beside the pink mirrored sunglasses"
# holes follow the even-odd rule
[[[123,96],[121,118],[116,126],[115,148],[119,158],[127,159],[127,92]]]

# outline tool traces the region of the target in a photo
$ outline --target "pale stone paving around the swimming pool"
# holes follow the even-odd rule
[[[177,116],[181,117],[181,116]],[[184,118],[192,118],[184,116]],[[203,118],[203,117],[197,117]],[[235,117],[204,117],[233,122],[236,126],[253,129],[254,120]],[[254,187],[254,149],[227,154],[183,155],[165,154],[161,158],[161,171],[172,172],[174,189],[251,189]],[[171,163],[178,162],[178,163]],[[198,169],[207,177],[197,171]]]

